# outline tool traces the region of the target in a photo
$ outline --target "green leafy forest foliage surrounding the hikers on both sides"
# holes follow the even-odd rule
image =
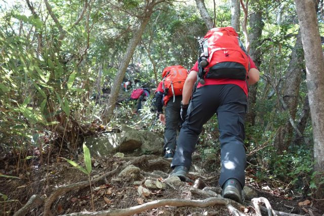
[[[67,143],[78,148],[82,142],[75,140],[82,140],[79,136],[85,136],[84,132],[92,132],[87,126],[103,119],[107,96],[101,97],[101,89],[113,87],[145,3],[94,1],[91,10],[88,8],[74,25],[83,4],[84,1],[51,1],[53,13],[66,31],[63,39],[47,10],[38,11],[43,8],[43,1],[33,1],[36,15],[31,14],[24,1],[16,1],[12,6],[0,4],[0,143],[9,149],[37,147],[45,152],[57,143],[62,143],[65,150]],[[208,11],[213,17],[212,6]],[[250,110],[255,112],[256,121],[254,125],[246,125],[247,152],[254,152],[248,158],[249,164],[256,169],[257,181],[280,180],[291,188],[300,189],[308,184],[315,190],[316,175],[307,176],[312,174],[312,145],[303,143],[284,154],[278,154],[273,147],[278,128],[286,125],[289,116],[288,111],[282,109],[277,94],[282,94],[287,85],[290,76],[287,68],[299,29],[294,1],[249,3],[249,14],[260,11],[262,36],[254,45],[261,57],[261,80],[256,107]],[[242,16],[243,13],[241,20]],[[230,17],[228,1],[217,2],[215,26],[230,25]],[[319,18],[322,20],[321,16]],[[321,33],[323,27],[320,23]],[[139,81],[133,88],[144,84],[154,87],[164,67],[181,64],[190,69],[198,55],[195,37],[205,35],[207,30],[194,1],[159,4],[132,56],[131,63],[139,70],[127,71],[125,78]],[[254,33],[249,26],[248,30]],[[307,93],[304,73],[302,79],[296,123]],[[150,111],[151,100],[143,103],[139,114],[134,114],[136,101],[125,101],[130,92],[120,92],[118,101],[124,102],[118,104],[109,126],[127,124],[151,129],[155,119],[155,113]],[[152,130],[162,135],[164,127],[157,121]],[[219,160],[217,128],[214,116],[204,125],[199,137],[197,152],[205,164],[216,164]],[[44,134],[49,135],[50,143],[44,142]],[[312,143],[310,121],[304,137]],[[90,175],[90,154],[85,146],[84,152],[86,167],[66,160]],[[34,155],[22,158],[29,157]]]

